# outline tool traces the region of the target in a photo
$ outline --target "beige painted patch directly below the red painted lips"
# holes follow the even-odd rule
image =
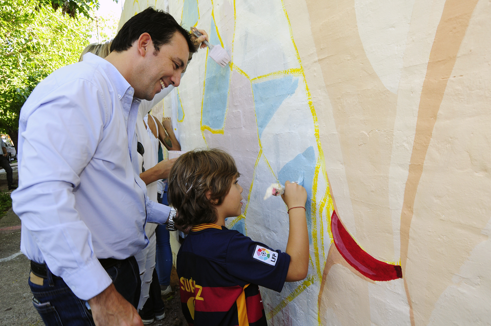
[[[319,305],[322,325],[370,326],[368,282],[346,267],[336,264],[327,275],[325,298]]]

